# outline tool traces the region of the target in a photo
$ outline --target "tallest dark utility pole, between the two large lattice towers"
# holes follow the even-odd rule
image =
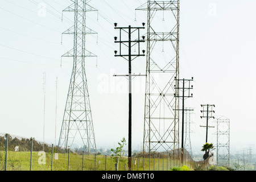
[[[129,133],[128,133],[128,158],[129,158],[129,170],[131,170],[131,61],[134,60],[136,57],[139,56],[145,56],[145,51],[142,50],[141,54],[140,52],[140,43],[145,42],[145,36],[142,36],[142,40],[140,40],[140,35],[139,35],[139,30],[144,29],[145,27],[145,23],[142,23],[143,27],[117,27],[117,23],[114,23],[115,29],[119,29],[120,31],[120,38],[119,40],[117,40],[118,38],[115,36],[114,40],[115,43],[119,43],[119,54],[117,54],[118,51],[114,51],[115,53],[115,57],[123,57],[125,58],[128,62],[129,62],[129,75],[114,75],[114,76],[128,76],[129,77]],[[126,32],[128,34],[129,40],[122,40],[121,36],[122,36],[122,31]],[[138,31],[138,39],[137,40],[131,40],[131,34],[133,34],[134,32]],[[127,45],[128,44],[128,45]],[[138,54],[131,54],[131,47],[135,46],[135,44],[138,44]],[[122,54],[122,45],[125,45],[126,47],[128,47],[128,54]],[[133,76],[143,76],[143,75],[133,75]]]

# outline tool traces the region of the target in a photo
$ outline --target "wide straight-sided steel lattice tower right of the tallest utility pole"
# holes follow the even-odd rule
[[[170,151],[179,145],[180,1],[147,1],[147,63],[143,151]],[[159,16],[163,16],[162,21]],[[177,80],[175,80],[175,78]]]

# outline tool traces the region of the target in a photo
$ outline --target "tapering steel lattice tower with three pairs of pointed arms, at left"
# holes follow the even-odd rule
[[[73,49],[63,57],[73,57],[73,70],[68,90],[68,97],[61,127],[59,147],[71,148],[77,138],[81,138],[86,152],[97,152],[93,130],[92,111],[90,108],[88,85],[85,74],[85,58],[96,56],[85,49],[85,37],[93,34],[85,26],[86,12],[97,11],[86,0],[73,0],[72,5],[63,11],[74,12],[74,25],[63,34],[74,36]]]

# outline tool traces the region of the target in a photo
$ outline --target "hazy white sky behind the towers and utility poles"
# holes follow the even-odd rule
[[[86,76],[98,147],[115,146],[122,137],[127,138],[128,96],[126,90],[119,89],[127,80],[112,76],[127,74],[127,61],[114,57],[117,45],[113,38],[118,32],[113,23],[135,26],[147,22],[146,11],[137,11],[135,16],[135,9],[145,2],[90,2],[98,14],[87,13],[86,26],[98,36],[88,36],[86,49],[98,57],[86,60]],[[45,5],[46,14],[39,4]],[[1,133],[43,140],[46,72],[46,142],[55,143],[56,77],[59,139],[72,71],[72,59],[63,59],[60,67],[61,55],[73,47],[71,35],[64,35],[61,44],[61,33],[73,23],[72,13],[64,13],[61,22],[62,10],[69,5],[68,0],[0,2]],[[254,0],[180,1],[180,77],[195,79],[194,97],[187,101],[188,106],[195,107],[195,133],[191,134],[195,148],[205,142],[205,129],[200,127],[205,124],[200,118],[201,104],[216,105],[215,114],[230,119],[231,147],[256,144],[255,7]],[[162,22],[163,17],[158,18]],[[136,59],[133,72],[144,73],[145,64],[144,57]],[[101,90],[104,81],[109,89]],[[133,146],[137,149],[143,142],[145,80],[136,77],[133,81]],[[213,143],[214,131],[209,131]]]

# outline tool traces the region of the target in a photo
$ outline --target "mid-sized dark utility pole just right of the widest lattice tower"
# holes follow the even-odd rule
[[[185,80],[183,79],[177,79],[175,77],[175,81],[177,82],[177,86],[174,85],[175,89],[181,89],[182,90],[182,95],[180,96],[179,94],[174,94],[175,97],[181,97],[182,98],[182,109],[178,109],[178,110],[182,110],[182,125],[181,125],[181,163],[183,163],[183,150],[184,150],[184,111],[186,110],[193,110],[193,109],[184,109],[185,104],[185,98],[189,98],[189,97],[193,97],[193,94],[190,93],[190,90],[193,89],[193,85],[191,85],[191,81],[193,81],[193,77],[190,80]],[[182,87],[179,86],[179,83],[181,82]],[[185,84],[188,84],[187,87],[185,87]],[[186,95],[185,92],[188,91],[188,94]],[[179,93],[179,92],[176,92]]]

